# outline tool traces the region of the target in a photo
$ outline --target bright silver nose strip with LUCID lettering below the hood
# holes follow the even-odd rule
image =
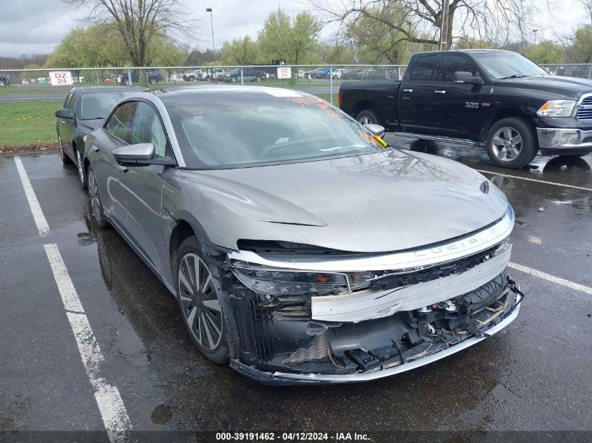
[[[484,249],[495,246],[507,239],[514,229],[514,210],[508,206],[504,218],[486,230],[477,232],[463,239],[452,241],[448,244],[433,248],[416,249],[398,253],[384,253],[362,258],[331,258],[326,257],[298,257],[294,255],[278,255],[277,258],[265,258],[252,251],[233,251],[228,253],[228,258],[233,261],[244,262],[242,266],[249,264],[271,267],[274,269],[294,270],[298,272],[361,272],[381,271],[396,269],[413,269],[441,262],[457,260],[467,255],[479,253]]]

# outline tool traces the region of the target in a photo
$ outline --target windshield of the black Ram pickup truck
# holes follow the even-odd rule
[[[535,62],[514,52],[474,52],[473,56],[493,78],[548,75]]]

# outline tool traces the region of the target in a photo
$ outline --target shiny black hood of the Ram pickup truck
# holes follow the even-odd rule
[[[562,76],[528,76],[500,80],[502,87],[518,87],[528,90],[543,91],[579,99],[581,94],[592,92],[592,81],[586,78]]]

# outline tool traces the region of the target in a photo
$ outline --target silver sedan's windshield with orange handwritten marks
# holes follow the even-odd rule
[[[186,166],[223,169],[373,153],[383,146],[326,101],[287,90],[162,97]]]

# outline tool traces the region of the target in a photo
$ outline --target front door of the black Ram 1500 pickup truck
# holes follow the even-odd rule
[[[467,55],[445,54],[432,91],[434,127],[443,136],[480,139],[489,110],[488,106],[483,107],[481,101],[485,85],[456,82],[454,73],[458,71],[483,78],[479,68]]]

